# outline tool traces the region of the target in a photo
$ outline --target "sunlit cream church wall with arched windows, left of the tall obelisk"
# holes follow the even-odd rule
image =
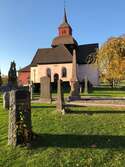
[[[62,68],[65,67],[67,69],[67,77],[61,77]],[[37,67],[31,67],[31,80],[34,83],[40,83],[40,78],[46,76],[47,68],[51,69],[51,82],[54,81],[54,74],[58,74],[59,78],[63,81],[69,81],[72,75],[72,63],[66,64],[45,64],[45,65],[37,65]],[[36,77],[34,80],[34,70],[36,70]]]

